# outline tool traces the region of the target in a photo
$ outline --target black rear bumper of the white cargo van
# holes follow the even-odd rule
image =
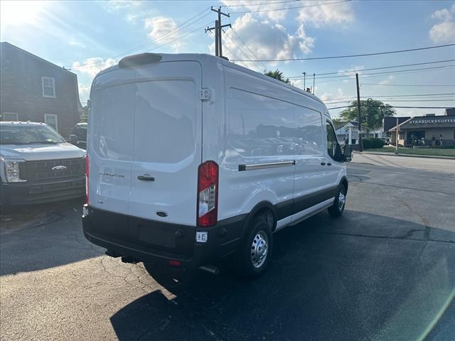
[[[247,220],[247,215],[240,215],[202,228],[143,220],[90,206],[86,211],[82,227],[93,244],[148,263],[172,265],[170,261],[179,261],[184,269],[213,264],[237,251]],[[196,232],[208,232],[207,242],[196,242]]]

